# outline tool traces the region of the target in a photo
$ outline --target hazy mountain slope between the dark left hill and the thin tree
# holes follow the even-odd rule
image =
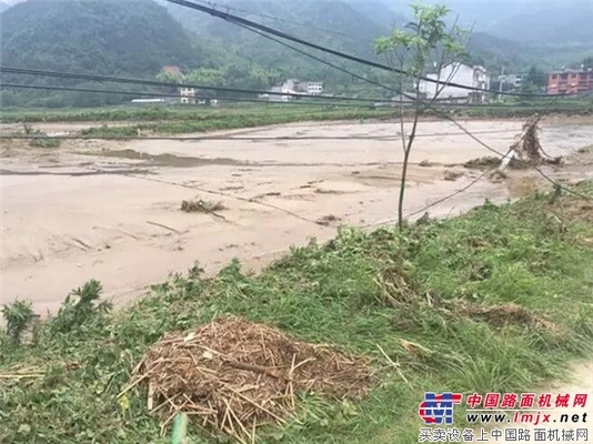
[[[170,13],[180,23],[201,39],[218,42],[234,53],[254,60],[268,69],[281,72],[284,77],[314,78],[334,82],[341,79],[341,74],[336,73],[335,70],[325,68],[319,62],[252,31],[204,12],[162,0],[160,3],[167,6]],[[224,4],[225,7],[221,6],[220,10],[282,30],[294,37],[314,41],[324,47],[368,58],[373,57],[373,39],[389,32],[389,23],[391,22],[391,18],[388,18],[388,21],[370,18],[363,10],[350,4],[348,0],[301,0],[298,3],[289,0],[235,0],[227,1]],[[394,13],[391,16],[395,17]],[[299,48],[318,57],[326,58],[319,51]],[[338,62],[342,63],[341,61]],[[354,69],[361,71],[360,67],[354,65]],[[345,78],[342,79],[342,81],[344,80]]]

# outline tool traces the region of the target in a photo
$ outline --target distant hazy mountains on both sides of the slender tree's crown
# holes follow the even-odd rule
[[[268,68],[273,67],[287,77],[315,77],[329,84],[349,81],[348,77],[331,68],[219,18],[164,0],[157,1],[191,32]],[[458,20],[465,29],[473,29],[469,44],[470,60],[494,72],[499,72],[502,65],[507,72],[525,72],[532,64],[557,69],[592,56],[591,0],[566,0],[562,4],[533,0],[441,2],[450,7],[451,20]],[[394,26],[403,26],[410,14],[408,2],[390,0],[218,0],[214,3],[221,11],[370,59],[375,57],[373,39],[389,33]],[[364,67],[344,61],[339,61],[339,64],[384,79]]]

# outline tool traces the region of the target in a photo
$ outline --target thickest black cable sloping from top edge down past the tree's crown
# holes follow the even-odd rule
[[[341,52],[341,51],[336,51],[336,50],[332,50],[332,49],[329,49],[329,48],[324,48],[324,47],[322,47],[320,44],[315,44],[315,43],[309,42],[309,41],[300,39],[298,37],[290,36],[290,34],[288,34],[285,32],[278,31],[278,30],[275,30],[273,28],[255,23],[255,22],[253,22],[251,20],[247,20],[247,19],[243,19],[241,17],[230,14],[228,12],[219,11],[219,10],[217,10],[214,8],[205,7],[205,6],[202,6],[202,4],[197,4],[197,3],[193,3],[193,2],[187,1],[187,0],[167,0],[167,1],[170,2],[170,3],[180,4],[180,6],[190,8],[190,9],[194,9],[194,10],[198,10],[198,11],[202,11],[202,12],[209,13],[211,16],[218,17],[220,19],[223,19],[225,21],[229,21],[229,22],[232,22],[232,23],[235,23],[235,24],[240,23],[240,24],[253,28],[253,29],[258,29],[258,30],[268,32],[270,34],[283,38],[285,40],[290,40],[290,41],[293,41],[295,43],[300,43],[300,44],[316,49],[319,51],[326,52],[326,53],[330,53],[330,54],[333,54],[333,56],[338,56],[338,57],[341,57],[343,59],[348,59],[348,60],[351,60],[351,61],[354,61],[354,62],[358,62],[358,63],[362,63],[362,64],[365,64],[365,65],[369,65],[369,67],[379,68],[379,69],[386,70],[386,71],[390,71],[390,72],[396,72],[396,73],[404,74],[404,75],[408,75],[408,77],[416,78],[415,75],[413,75],[412,73],[410,73],[408,71],[400,70],[400,69],[396,69],[396,68],[393,68],[393,67],[389,67],[386,64],[382,64],[382,63],[379,63],[379,62],[374,62],[372,60],[362,59],[362,58],[356,57],[356,56],[351,56],[351,54],[348,54],[348,53],[344,53],[344,52]],[[486,90],[486,89],[475,88],[475,87],[468,87],[465,84],[455,83],[455,82],[440,81],[440,80],[431,79],[431,78],[425,77],[425,75],[422,75],[419,79],[423,80],[423,81],[426,81],[429,83],[436,83],[436,84],[440,84],[440,85],[455,87],[455,88],[460,88],[460,89],[469,90],[469,91],[488,92],[488,93],[492,92],[492,91]],[[539,97],[539,98],[547,98],[547,99],[553,98],[550,94],[533,94],[533,93],[521,93],[521,92],[502,92],[500,94],[501,95],[512,95],[512,97],[531,97],[531,98]],[[556,95],[569,95],[569,94],[556,94]]]

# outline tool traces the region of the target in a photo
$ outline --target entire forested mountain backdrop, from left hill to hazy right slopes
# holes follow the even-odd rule
[[[452,18],[459,14],[460,23],[474,24],[469,62],[483,64],[493,73],[503,65],[506,72],[526,72],[532,65],[557,69],[592,56],[591,44],[583,43],[593,39],[585,26],[591,19],[585,2],[569,0],[560,9],[526,3],[504,8],[497,0],[488,4],[443,2],[452,8]],[[376,59],[373,40],[394,26],[404,26],[404,14],[410,13],[408,2],[388,0],[214,0],[212,6],[366,59]],[[3,65],[153,79],[163,65],[174,64],[188,74],[188,81],[199,84],[268,89],[283,79],[300,78],[325,82],[328,93],[390,95],[262,36],[165,0],[0,0],[0,7],[4,9],[0,16]],[[541,26],[534,17],[547,24]],[[389,72],[300,49],[368,79],[392,80]],[[60,79],[3,80],[118,88]],[[132,85],[125,89],[143,91]],[[99,105],[133,97],[2,92],[4,105]]]

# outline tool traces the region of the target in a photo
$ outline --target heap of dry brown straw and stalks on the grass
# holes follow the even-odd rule
[[[149,410],[162,431],[185,413],[213,433],[254,442],[263,424],[282,424],[295,393],[360,398],[371,386],[369,360],[296,341],[241,317],[219,319],[150,347],[132,386],[148,385]]]

